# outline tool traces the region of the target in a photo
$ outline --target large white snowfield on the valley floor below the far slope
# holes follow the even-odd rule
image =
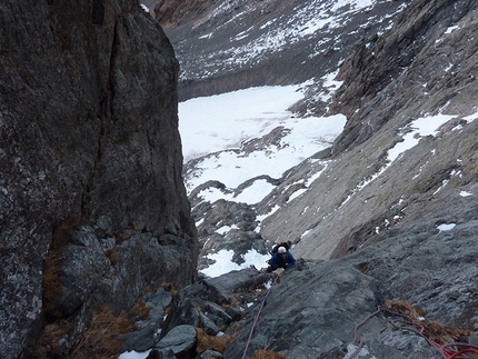
[[[280,178],[286,170],[331,146],[342,131],[346,117],[295,118],[287,108],[302,97],[299,88],[252,88],[181,102],[179,129],[185,159],[215,153],[198,160],[193,172],[186,176],[188,192],[208,180],[235,189],[262,174]],[[241,151],[246,141],[278,127],[285,128],[278,143],[250,153]],[[227,148],[235,150],[223,151]],[[216,188],[203,190],[199,196],[211,203],[220,198],[257,203],[273,188],[265,180],[257,180],[236,198]]]

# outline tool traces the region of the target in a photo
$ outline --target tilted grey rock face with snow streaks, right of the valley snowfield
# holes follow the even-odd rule
[[[339,77],[346,80],[333,106],[349,112],[356,103],[351,107],[356,110],[331,148],[328,168],[310,186],[310,191],[318,195],[298,198],[292,209],[269,218],[262,230],[300,241],[296,248],[300,257],[340,257],[368,240],[376,241],[384,229],[402,221],[416,222],[417,218],[425,220],[424,213],[428,213],[427,223],[417,226],[438,226],[440,220],[467,217],[459,193],[475,193],[476,188],[474,138],[478,123],[469,121],[468,116],[476,112],[471,99],[478,86],[478,58],[466,49],[476,47],[472,33],[478,4],[460,2],[464,8],[456,12],[455,4],[434,3],[430,8],[431,2],[414,2],[386,36],[362,43],[360,51],[343,62]],[[405,20],[409,13],[416,21]],[[397,39],[405,29],[420,23],[420,41],[428,41],[402,44],[400,53],[414,56],[407,67],[400,67],[395,52]],[[394,63],[398,74],[390,77]],[[371,68],[376,69],[374,77]],[[360,90],[365,79],[378,77],[387,80],[366,87],[365,92]],[[414,131],[412,121],[424,118],[431,122],[432,116],[449,116],[450,121],[392,161],[389,150],[405,140],[405,133]],[[440,203],[448,203],[451,218],[435,217]],[[475,205],[471,200],[467,207]],[[305,213],[303,208],[308,208]],[[309,230],[307,235],[305,229]]]

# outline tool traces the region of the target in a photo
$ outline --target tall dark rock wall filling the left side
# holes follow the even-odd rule
[[[0,351],[74,320],[66,356],[99,306],[196,277],[179,68],[137,1],[4,2],[0,22]]]

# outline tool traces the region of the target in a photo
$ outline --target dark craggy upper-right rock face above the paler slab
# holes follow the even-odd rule
[[[464,98],[457,88],[474,91],[476,57],[469,49],[476,40],[462,34],[475,32],[476,7],[476,1],[414,2],[387,36],[356,44],[353,54],[341,63],[338,79],[343,84],[332,102],[332,111],[349,118],[335,153],[364,142],[407,108],[412,108],[405,114],[409,117],[419,110],[432,112],[454,98],[454,102]],[[468,104],[450,106],[449,112],[467,114]]]

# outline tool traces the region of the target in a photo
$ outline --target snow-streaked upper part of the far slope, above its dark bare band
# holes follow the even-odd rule
[[[376,14],[374,9],[384,4],[388,11]],[[346,37],[365,32],[372,26],[389,27],[397,11],[397,3],[392,1],[372,0],[301,1],[293,7],[281,4],[285,9],[278,6],[277,1],[221,2],[207,21],[193,27],[196,58],[192,62],[182,61],[180,79],[202,79],[251,68],[290,51],[296,44],[307,52],[309,61],[317,60],[327,50],[341,49]],[[190,43],[190,38],[176,42],[180,60],[183,47]]]

